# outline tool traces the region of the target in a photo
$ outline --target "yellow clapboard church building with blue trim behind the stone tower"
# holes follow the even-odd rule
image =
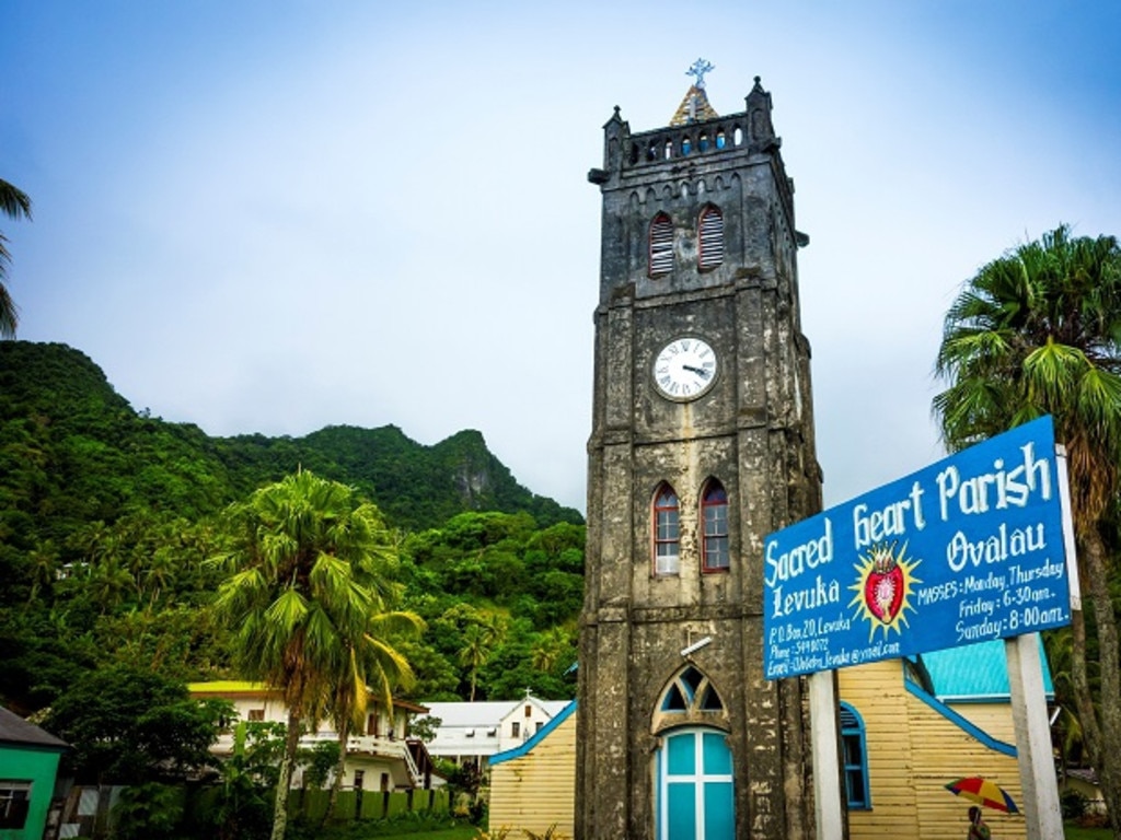
[[[1047,688],[1049,673],[1044,663]],[[842,760],[850,840],[961,840],[972,804],[945,785],[980,775],[1020,801],[1002,642],[842,669]],[[490,827],[573,836],[576,703],[491,759]],[[985,811],[994,840],[1026,837],[1022,815]]]

